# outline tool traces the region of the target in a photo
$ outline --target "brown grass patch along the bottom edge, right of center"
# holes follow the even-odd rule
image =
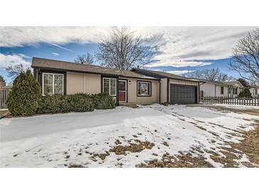
[[[164,154],[161,160],[154,159],[147,164],[137,164],[138,168],[211,168],[209,162],[205,161],[204,157],[192,157],[191,154],[182,156],[172,156]]]

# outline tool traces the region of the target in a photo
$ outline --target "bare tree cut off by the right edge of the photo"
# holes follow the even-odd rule
[[[244,79],[259,82],[259,28],[238,40],[228,67]]]

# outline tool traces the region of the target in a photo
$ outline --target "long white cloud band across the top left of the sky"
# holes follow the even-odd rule
[[[35,45],[40,42],[54,45],[99,42],[109,30],[109,27],[1,27],[0,47]]]

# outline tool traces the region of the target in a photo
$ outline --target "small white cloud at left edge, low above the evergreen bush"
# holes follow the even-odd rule
[[[23,64],[24,67],[30,67],[30,57],[23,54],[4,55],[0,53],[0,68],[4,69],[9,65]]]

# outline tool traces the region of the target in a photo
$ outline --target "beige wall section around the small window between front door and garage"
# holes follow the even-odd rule
[[[128,103],[152,104],[159,103],[159,81],[120,77],[128,80]],[[137,81],[151,81],[151,96],[137,96]]]

